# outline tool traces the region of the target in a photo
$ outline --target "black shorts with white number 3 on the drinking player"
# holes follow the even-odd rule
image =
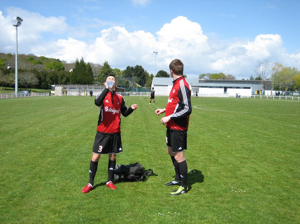
[[[122,153],[121,133],[116,135],[96,133],[93,145],[95,154],[118,154]]]

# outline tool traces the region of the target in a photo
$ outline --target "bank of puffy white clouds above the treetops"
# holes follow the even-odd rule
[[[64,17],[44,17],[20,8],[10,7],[7,16],[0,11],[0,52],[14,53],[15,29],[11,25],[13,15],[24,21],[18,28],[19,53],[59,58],[67,62],[84,58],[86,62],[125,69],[128,65],[142,65],[150,73],[168,71],[169,63],[179,58],[184,63],[184,74],[198,77],[202,73],[232,74],[237,78],[253,75],[257,61],[278,61],[285,66],[300,69],[300,52],[287,54],[278,34],[260,34],[250,39],[230,41],[209,38],[201,25],[178,16],[154,34],[145,31],[128,32],[125,27],[113,26],[96,30],[90,40],[82,36],[69,36],[78,30],[67,25]],[[50,40],[47,36],[52,36]],[[54,35],[55,34],[55,35]],[[59,37],[58,37],[59,36]],[[94,37],[95,36],[95,37]]]

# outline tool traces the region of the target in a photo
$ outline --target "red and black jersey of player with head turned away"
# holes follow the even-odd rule
[[[166,106],[166,116],[170,115],[171,120],[166,127],[175,131],[187,131],[191,112],[190,88],[182,76],[173,81]]]

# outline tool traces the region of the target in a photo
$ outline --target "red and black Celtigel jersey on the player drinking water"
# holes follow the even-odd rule
[[[107,88],[96,95],[95,105],[99,107],[97,131],[105,134],[120,133],[121,114],[127,117],[134,111],[127,108],[121,95]]]

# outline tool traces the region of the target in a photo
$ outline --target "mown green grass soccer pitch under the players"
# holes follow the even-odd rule
[[[167,97],[125,97],[124,152],[155,176],[105,186],[101,156],[87,193],[98,107],[90,97],[0,100],[0,223],[300,223],[300,101],[192,98],[185,151],[189,191],[170,196]]]

